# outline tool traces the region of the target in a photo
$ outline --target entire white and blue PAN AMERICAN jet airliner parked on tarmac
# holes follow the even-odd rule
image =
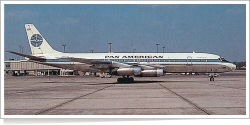
[[[31,55],[24,56],[44,65],[77,71],[103,71],[121,76],[118,83],[132,83],[133,76],[157,77],[165,73],[223,73],[236,69],[225,58],[209,53],[64,53],[51,47],[34,24],[25,24]],[[214,81],[214,75],[210,75]]]

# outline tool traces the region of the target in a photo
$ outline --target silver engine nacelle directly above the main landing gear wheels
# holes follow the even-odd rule
[[[132,75],[140,75],[141,68],[140,67],[133,67],[133,68],[121,68],[117,70],[117,74],[121,76],[132,76]]]

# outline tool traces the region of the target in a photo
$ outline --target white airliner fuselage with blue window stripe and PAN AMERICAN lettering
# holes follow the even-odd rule
[[[36,54],[34,56],[46,58],[46,63],[54,66],[65,65],[82,71],[94,69],[90,67],[91,65],[61,58],[73,57],[102,62],[117,62],[141,65],[142,68],[154,66],[169,73],[227,72],[236,68],[234,64],[223,60],[223,57],[208,53],[50,53]]]

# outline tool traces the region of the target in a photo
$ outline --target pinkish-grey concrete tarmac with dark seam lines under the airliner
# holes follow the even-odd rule
[[[5,76],[4,115],[246,115],[246,72],[117,78]]]

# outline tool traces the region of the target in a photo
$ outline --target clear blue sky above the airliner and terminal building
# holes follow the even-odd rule
[[[2,18],[2,17],[1,17]],[[5,4],[4,49],[30,54],[24,25],[67,52],[205,52],[246,61],[244,4]],[[4,53],[4,60],[19,58]]]

